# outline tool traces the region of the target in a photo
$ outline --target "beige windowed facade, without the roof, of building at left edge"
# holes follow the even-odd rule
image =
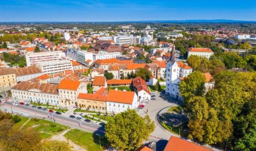
[[[17,84],[16,75],[15,74],[0,74],[0,88],[6,88],[10,86],[14,86]]]

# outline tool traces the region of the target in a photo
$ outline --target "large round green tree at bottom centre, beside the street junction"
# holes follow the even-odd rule
[[[105,135],[116,149],[136,150],[148,140],[155,129],[154,122],[146,115],[140,117],[135,110],[119,113],[106,124]]]

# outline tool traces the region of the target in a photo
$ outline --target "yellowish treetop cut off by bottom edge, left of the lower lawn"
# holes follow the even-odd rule
[[[40,151],[71,151],[72,147],[70,147],[68,142],[65,141],[47,141],[41,144],[41,147],[39,149]]]

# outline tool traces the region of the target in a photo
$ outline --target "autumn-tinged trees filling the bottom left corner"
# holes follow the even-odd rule
[[[46,141],[41,142],[39,133],[32,129],[20,130],[14,127],[19,122],[17,115],[0,111],[0,149],[1,150],[71,150],[68,142]]]

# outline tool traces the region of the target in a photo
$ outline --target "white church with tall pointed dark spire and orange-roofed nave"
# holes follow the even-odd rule
[[[179,82],[192,73],[192,70],[192,67],[189,67],[186,63],[175,61],[175,45],[173,45],[171,59],[167,62],[166,67],[165,94],[177,100],[182,100],[182,97],[179,96]]]

